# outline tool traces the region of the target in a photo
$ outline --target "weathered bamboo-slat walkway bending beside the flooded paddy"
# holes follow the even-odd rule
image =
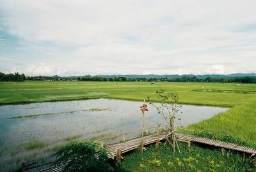
[[[248,154],[256,153],[255,148],[244,147],[241,145],[237,145],[235,143],[227,143],[225,141],[212,140],[209,138],[201,138],[198,136],[192,136],[192,135],[188,135],[188,134],[175,133],[175,135],[176,135],[177,140],[189,143],[189,145],[190,145],[190,142],[194,142],[194,143],[202,143],[205,145],[212,145],[214,147],[219,147],[219,148],[226,148],[229,150],[236,150],[236,151],[244,152],[244,153],[248,153]],[[166,139],[165,135],[159,136],[160,141],[165,140],[165,139]],[[145,136],[143,138],[143,145],[149,145],[152,143],[156,143],[156,141],[157,141],[156,134],[150,135],[150,136]],[[125,152],[129,152],[131,150],[138,148],[140,145],[141,145],[141,138],[137,138],[134,140],[126,141],[125,143],[106,145],[106,148],[109,150],[109,152],[111,152],[113,157],[116,157],[118,150],[121,150],[121,152],[123,154]],[[109,156],[109,158],[110,157],[111,156]],[[43,170],[40,170],[39,172],[60,172],[60,171],[63,171],[63,168],[65,168],[65,164],[58,166],[58,167],[53,166],[51,168],[43,169]]]

